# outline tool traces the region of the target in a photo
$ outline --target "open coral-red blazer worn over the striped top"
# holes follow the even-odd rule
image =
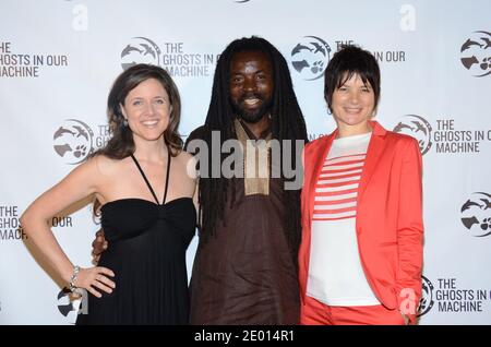
[[[379,301],[388,309],[399,309],[414,323],[421,297],[421,153],[415,139],[386,131],[375,121],[370,124],[373,132],[357,199],[356,231],[361,264]],[[299,250],[302,302],[309,273],[315,183],[336,135],[337,130],[307,144],[303,153]]]

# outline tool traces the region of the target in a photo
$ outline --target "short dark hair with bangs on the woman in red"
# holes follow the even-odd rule
[[[346,83],[354,74],[358,74],[373,89],[375,109],[380,99],[380,68],[375,57],[358,46],[344,46],[334,53],[324,74],[324,98],[332,110],[333,93]]]

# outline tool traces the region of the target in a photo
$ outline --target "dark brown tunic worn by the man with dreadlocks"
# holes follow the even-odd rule
[[[190,322],[298,324],[298,277],[284,232],[283,184],[271,179],[270,195],[244,196],[243,179],[236,182],[226,226],[219,223],[215,236],[197,247]]]

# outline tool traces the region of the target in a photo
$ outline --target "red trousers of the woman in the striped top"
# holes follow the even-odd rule
[[[302,325],[405,325],[398,310],[388,310],[382,304],[337,307],[327,306],[306,297],[301,307]]]

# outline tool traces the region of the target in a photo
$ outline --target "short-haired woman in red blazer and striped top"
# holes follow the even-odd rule
[[[408,324],[421,296],[421,154],[416,140],[372,121],[375,58],[348,46],[325,73],[337,123],[306,146],[302,324]]]

